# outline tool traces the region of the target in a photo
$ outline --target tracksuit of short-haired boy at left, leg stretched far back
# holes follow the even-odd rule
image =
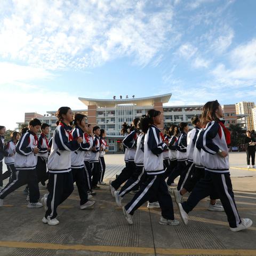
[[[14,157],[16,169],[15,180],[10,181],[1,191],[0,198],[4,199],[15,189],[28,184],[29,202],[37,203],[39,199],[39,188],[36,174],[37,155],[33,150],[38,145],[36,134],[27,131],[17,143]]]

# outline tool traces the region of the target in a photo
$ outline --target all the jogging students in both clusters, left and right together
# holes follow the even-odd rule
[[[0,126],[1,175],[3,157],[8,169],[0,182],[10,176],[9,183],[0,191],[0,206],[8,194],[27,184],[28,207],[44,206],[42,221],[49,225],[59,223],[57,207],[72,193],[74,182],[81,209],[94,206],[95,202],[91,201],[94,189],[100,188],[98,184],[105,184],[105,131],[87,124],[85,115],[74,117],[69,107],[59,108],[56,116],[57,128],[50,141],[46,138],[49,125],[41,124],[36,118],[29,122],[29,129],[23,131],[21,137],[13,132],[6,146],[5,127]],[[149,209],[161,208],[159,224],[179,225],[174,218],[172,193],[185,225],[188,213],[208,196],[208,210],[225,211],[231,231],[252,225],[252,220],[240,218],[237,211],[229,173],[230,132],[221,121],[222,117],[221,106],[215,100],[204,105],[200,117],[191,119],[194,125],[191,131],[188,124],[182,122],[179,126],[172,125],[163,134],[158,128],[162,123],[161,113],[155,109],[135,118],[131,126],[123,126],[125,167],[114,181],[109,181],[109,189],[118,206],[122,206],[126,194],[134,194],[123,206],[130,225],[133,224],[132,215],[145,202]],[[42,132],[37,138],[40,129]],[[178,185],[174,183],[177,177],[180,177]],[[46,180],[48,193],[40,203],[38,182],[45,185]],[[187,193],[187,201],[182,202]]]

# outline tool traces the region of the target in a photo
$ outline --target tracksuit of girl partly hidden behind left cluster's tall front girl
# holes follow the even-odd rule
[[[87,186],[87,181],[85,178],[84,170],[84,151],[90,148],[90,141],[84,137],[83,130],[76,126],[72,131],[73,139],[83,138],[83,142],[79,144],[79,149],[77,151],[71,152],[71,170],[73,174],[73,181],[76,182],[80,197],[80,205],[85,204],[88,201],[89,187]]]

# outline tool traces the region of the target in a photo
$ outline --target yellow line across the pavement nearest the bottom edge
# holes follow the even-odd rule
[[[116,253],[140,253],[154,254],[152,247],[124,247],[124,246],[107,246],[107,245],[82,245],[82,244],[50,244],[50,243],[27,243],[14,241],[0,241],[1,247],[26,248],[26,249],[45,249],[45,250],[75,250],[75,251],[92,251],[92,252],[116,252]],[[169,249],[156,248],[156,253],[162,255],[240,255],[255,256],[256,250],[244,249]]]

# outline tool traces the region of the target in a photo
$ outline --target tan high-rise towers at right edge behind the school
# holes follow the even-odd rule
[[[252,115],[252,109],[254,107],[255,107],[254,102],[241,101],[236,103],[236,114],[247,115],[246,117],[244,117],[244,121],[246,122],[246,126],[248,130],[253,130],[253,127],[254,127],[253,115]]]

